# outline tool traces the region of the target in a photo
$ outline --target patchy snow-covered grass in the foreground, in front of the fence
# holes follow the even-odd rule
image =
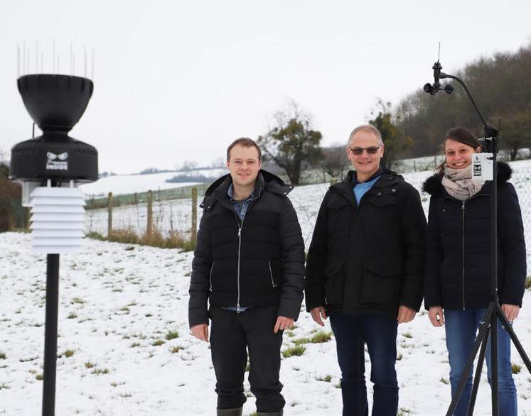
[[[0,415],[41,412],[45,256],[27,234],[0,234]],[[56,415],[214,415],[214,372],[208,344],[188,330],[191,253],[85,240],[81,253],[61,258]],[[531,350],[531,291],[515,331]],[[301,313],[284,334],[294,340],[321,330]],[[326,329],[330,331],[327,322]],[[166,339],[169,332],[178,332]],[[168,336],[171,338],[171,336]],[[160,344],[160,345],[158,345]],[[397,371],[404,415],[444,415],[449,405],[444,330],[426,314],[402,324]],[[286,415],[340,415],[335,341],[304,344],[283,358]],[[66,351],[73,355],[65,354]],[[531,415],[531,376],[513,351],[519,415]],[[370,371],[370,363],[367,363]],[[489,415],[486,376],[475,415]],[[370,384],[370,383],[369,383]],[[246,390],[249,385],[246,382]],[[250,395],[250,394],[249,394]],[[245,415],[254,412],[249,397]]]

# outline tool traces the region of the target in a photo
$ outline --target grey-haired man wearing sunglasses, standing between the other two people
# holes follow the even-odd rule
[[[419,192],[380,167],[384,143],[374,126],[350,134],[355,170],[330,187],[306,261],[306,308],[330,317],[341,370],[343,415],[368,415],[365,344],[374,383],[372,416],[395,416],[397,325],[422,302],[426,218]]]

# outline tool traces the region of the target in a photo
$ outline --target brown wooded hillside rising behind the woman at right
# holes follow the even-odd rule
[[[444,71],[444,70],[443,70]],[[500,148],[510,151],[531,143],[531,45],[516,53],[497,53],[469,63],[452,75],[463,80],[491,126],[500,128]],[[463,89],[454,84],[454,94],[440,92],[432,97],[419,89],[402,99],[393,111],[396,126],[412,138],[405,155],[432,155],[439,151],[449,128],[467,126],[483,136],[483,125]],[[449,81],[449,82],[445,82]]]

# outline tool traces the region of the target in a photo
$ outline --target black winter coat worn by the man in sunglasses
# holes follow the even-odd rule
[[[363,195],[353,175],[323,199],[306,261],[306,308],[374,312],[397,318],[399,305],[419,310],[426,218],[419,192],[390,170]]]

